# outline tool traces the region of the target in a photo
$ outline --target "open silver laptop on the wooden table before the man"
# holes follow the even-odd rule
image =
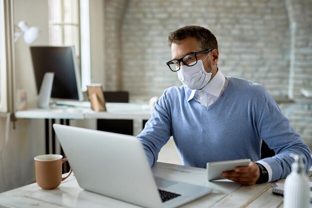
[[[175,208],[211,188],[154,177],[134,136],[53,124],[79,186],[147,208]]]

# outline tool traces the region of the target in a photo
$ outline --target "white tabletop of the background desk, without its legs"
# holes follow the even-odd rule
[[[148,105],[135,103],[106,103],[107,111],[91,108],[57,106],[49,109],[28,109],[15,112],[16,118],[26,119],[146,119],[151,117]]]

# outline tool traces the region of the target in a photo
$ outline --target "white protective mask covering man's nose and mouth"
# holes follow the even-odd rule
[[[206,56],[206,58],[209,56],[209,54]],[[204,60],[206,58],[204,58]],[[212,69],[213,66],[209,73],[206,72],[204,65],[202,64],[202,60],[198,60],[194,66],[181,65],[180,70],[177,71],[177,77],[189,89],[199,90],[210,81]]]

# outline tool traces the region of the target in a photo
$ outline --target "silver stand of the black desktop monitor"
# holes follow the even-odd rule
[[[46,72],[44,74],[37,103],[39,108],[50,107],[49,104],[53,85],[53,78],[54,78],[53,72]]]

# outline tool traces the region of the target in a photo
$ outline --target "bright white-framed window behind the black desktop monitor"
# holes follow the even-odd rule
[[[81,24],[80,19],[83,20]],[[49,0],[48,24],[50,45],[75,46],[78,64],[81,66],[81,86],[83,91],[86,90],[91,79],[89,0]]]

